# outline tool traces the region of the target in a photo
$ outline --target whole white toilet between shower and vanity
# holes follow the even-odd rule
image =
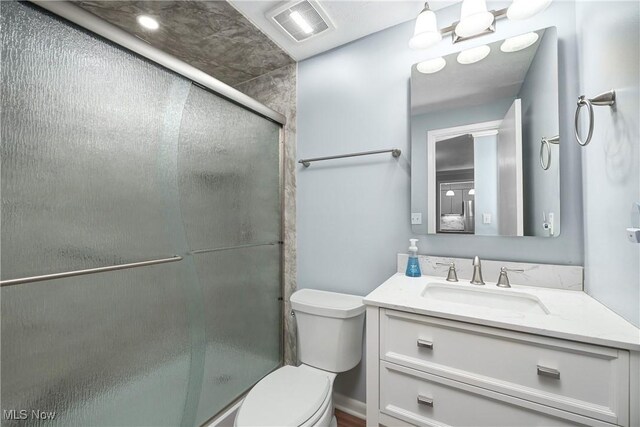
[[[362,359],[362,297],[301,289],[291,295],[300,366],[264,377],[238,409],[237,427],[336,426],[333,380]]]

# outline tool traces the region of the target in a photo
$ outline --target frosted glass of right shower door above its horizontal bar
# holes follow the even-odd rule
[[[178,157],[191,249],[280,240],[279,131],[279,125],[192,86]]]

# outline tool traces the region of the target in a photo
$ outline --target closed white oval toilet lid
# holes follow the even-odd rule
[[[299,426],[322,406],[330,389],[321,373],[283,366],[247,394],[236,426]]]

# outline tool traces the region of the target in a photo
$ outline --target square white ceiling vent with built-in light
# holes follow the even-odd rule
[[[317,1],[286,3],[267,14],[292,39],[302,42],[335,28]]]

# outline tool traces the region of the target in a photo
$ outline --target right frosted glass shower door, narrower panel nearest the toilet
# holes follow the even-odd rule
[[[191,87],[178,185],[205,313],[198,424],[280,364],[279,131]]]

